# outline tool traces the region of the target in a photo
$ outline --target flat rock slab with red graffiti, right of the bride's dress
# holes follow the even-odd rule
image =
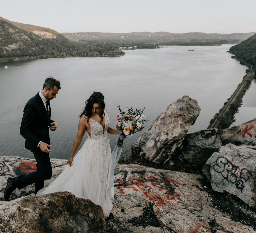
[[[201,175],[134,164],[118,165],[107,232],[256,232],[246,222],[238,222],[227,214],[224,204],[221,204],[223,212],[219,210],[202,182]],[[244,219],[246,211],[239,216]],[[252,216],[253,224],[255,215]]]

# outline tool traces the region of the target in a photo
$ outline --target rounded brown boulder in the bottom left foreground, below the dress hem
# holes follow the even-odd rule
[[[57,192],[1,201],[0,231],[106,232],[106,223],[100,206],[70,192]]]

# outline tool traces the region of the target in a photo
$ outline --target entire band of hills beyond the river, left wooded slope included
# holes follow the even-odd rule
[[[121,48],[158,45],[220,45],[240,43],[253,33],[206,34],[169,32],[58,33],[52,29],[12,22],[0,17],[0,62],[52,57],[121,56]]]

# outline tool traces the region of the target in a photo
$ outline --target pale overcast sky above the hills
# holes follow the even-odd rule
[[[12,0],[0,16],[57,32],[256,31],[256,0]]]

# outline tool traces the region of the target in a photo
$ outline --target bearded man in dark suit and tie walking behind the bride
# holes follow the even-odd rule
[[[44,180],[52,177],[50,162],[49,129],[55,131],[57,122],[51,119],[50,100],[56,98],[61,89],[60,82],[53,77],[45,79],[43,90],[32,97],[25,105],[20,126],[20,134],[26,139],[25,147],[33,152],[37,169],[16,178],[9,177],[4,190],[4,199],[9,201],[15,188],[21,189],[35,183],[35,195],[44,187]]]

